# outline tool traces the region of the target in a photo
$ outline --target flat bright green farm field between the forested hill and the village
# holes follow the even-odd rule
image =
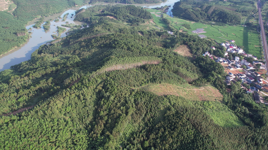
[[[235,40],[235,44],[244,49],[246,53],[253,54],[258,58],[261,57],[262,48],[259,42],[259,33],[255,30],[251,30],[247,26],[243,25],[210,25],[203,24],[200,22],[192,22],[181,18],[170,17],[167,14],[163,14],[171,24],[178,30],[184,30],[189,34],[193,33],[192,30],[196,30],[196,28],[204,28],[206,33],[202,33],[207,37],[214,39],[216,42],[221,43],[225,41],[229,41],[231,39]],[[247,21],[255,21],[254,18],[251,18]],[[183,23],[190,24],[192,29],[186,29],[184,26],[181,26]],[[161,25],[161,24],[158,24]],[[197,34],[196,34],[197,35]]]

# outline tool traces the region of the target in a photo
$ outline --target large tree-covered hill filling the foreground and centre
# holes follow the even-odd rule
[[[159,30],[141,7],[79,16],[89,27],[0,72],[0,149],[267,149],[267,108],[238,84],[226,91],[223,67],[200,56],[212,41]],[[182,44],[195,58],[173,52]],[[220,100],[162,85],[215,86]]]

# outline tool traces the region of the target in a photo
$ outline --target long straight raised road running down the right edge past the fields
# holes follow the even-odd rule
[[[265,36],[265,30],[263,26],[263,21],[262,21],[262,16],[261,16],[261,4],[260,0],[258,0],[258,16],[259,16],[259,25],[260,25],[260,34],[261,34],[261,39],[262,39],[262,47],[263,47],[263,52],[264,52],[264,57],[267,62],[268,60],[268,46],[267,46],[267,41],[266,41],[266,36]],[[268,69],[268,63],[265,63],[266,65],[266,70]],[[268,74],[268,72],[266,73]]]

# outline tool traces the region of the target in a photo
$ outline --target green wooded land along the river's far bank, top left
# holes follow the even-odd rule
[[[68,7],[96,2],[157,3],[161,0],[12,0],[16,9],[11,13],[0,11],[0,55],[25,43],[29,33],[25,25],[38,17],[59,13]],[[37,22],[37,28],[42,22]],[[48,29],[47,26],[45,28]]]

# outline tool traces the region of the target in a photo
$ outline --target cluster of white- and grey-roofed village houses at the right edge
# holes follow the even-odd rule
[[[263,79],[259,73],[255,72],[256,65],[260,64],[260,69],[265,69],[265,65],[257,60],[257,57],[253,56],[252,54],[247,54],[245,51],[236,46],[234,44],[234,40],[230,40],[231,43],[225,42],[221,43],[222,46],[226,48],[225,56],[222,57],[215,57],[212,54],[210,54],[208,51],[205,52],[203,55],[208,55],[210,58],[214,58],[216,62],[221,63],[225,66],[227,70],[229,70],[228,75],[226,76],[226,84],[231,85],[233,82],[236,81],[242,81],[243,84],[241,84],[241,88],[246,89],[247,93],[253,93],[254,97],[259,97],[258,93],[255,91],[259,91],[263,88],[263,84],[267,84],[265,79]],[[211,47],[212,49],[216,49],[214,46]],[[245,57],[252,57],[253,62],[250,63],[246,59],[240,60],[241,56],[235,56],[233,59],[228,58],[228,53],[238,53]],[[241,69],[241,71],[237,71]],[[242,71],[243,69],[243,71]],[[234,70],[234,71],[232,71]],[[236,72],[236,73],[232,73]],[[244,83],[248,84],[247,87],[244,87]],[[264,86],[265,87],[265,86]],[[255,96],[256,95],[256,96]],[[258,98],[259,99],[259,98]],[[268,103],[267,103],[268,104]]]

